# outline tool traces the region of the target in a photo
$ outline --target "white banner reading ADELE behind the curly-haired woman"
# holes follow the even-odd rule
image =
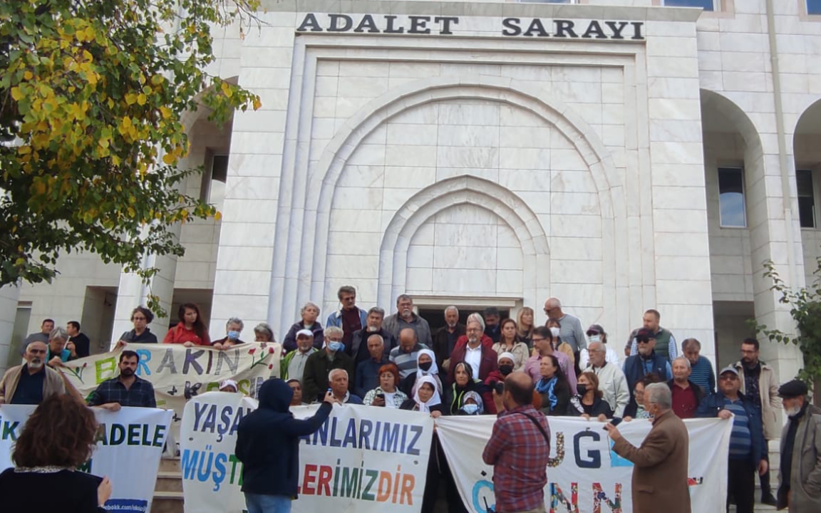
[[[0,405],[0,471],[14,466],[12,444],[35,408]],[[100,424],[97,447],[80,470],[111,479],[112,494],[105,503],[108,511],[148,513],[172,411],[122,408],[112,412],[95,408],[94,414]]]

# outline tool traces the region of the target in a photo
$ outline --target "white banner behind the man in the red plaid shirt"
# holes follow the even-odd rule
[[[486,513],[493,497],[493,467],[482,461],[495,417],[440,417],[436,421],[448,465],[469,511]],[[611,450],[603,423],[550,417],[548,484],[544,488],[549,513],[631,513],[633,466]],[[688,419],[690,433],[690,499],[692,511],[724,511],[727,497],[727,453],[732,422]],[[619,424],[621,434],[639,447],[649,433],[649,420]],[[663,505],[660,505],[660,507]]]

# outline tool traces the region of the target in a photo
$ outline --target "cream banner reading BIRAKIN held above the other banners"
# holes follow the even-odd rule
[[[216,390],[224,379],[237,382],[240,392],[256,396],[270,376],[279,376],[280,344],[248,343],[227,350],[181,344],[128,344],[108,353],[65,362],[62,367],[80,394],[88,396],[101,382],[119,375],[122,350],[140,355],[136,375],[154,385],[157,405],[174,410],[179,425],[186,400]]]

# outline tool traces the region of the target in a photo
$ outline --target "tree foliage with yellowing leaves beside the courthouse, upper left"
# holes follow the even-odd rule
[[[259,108],[205,71],[213,27],[242,33],[258,3],[0,2],[0,285],[50,281],[72,250],[149,281],[144,254],[183,254],[169,227],[218,217],[178,190],[195,171],[177,167],[181,120],[200,105],[217,123]]]

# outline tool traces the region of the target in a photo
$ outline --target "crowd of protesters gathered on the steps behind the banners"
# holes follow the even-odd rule
[[[435,331],[415,314],[409,295],[400,295],[397,311],[388,316],[378,307],[360,309],[352,286],[342,286],[338,299],[342,307],[328,315],[324,326],[319,323],[319,306],[306,303],[300,320],[282,339],[279,371],[282,387],[287,384],[290,391],[289,405],[349,403],[433,417],[498,414],[499,419],[511,410],[525,409],[525,415],[536,413],[540,418],[534,418],[535,424],[527,419],[506,421],[510,433],[538,424],[545,428],[545,439],[549,439],[552,416],[602,423],[718,417],[733,423],[727,483],[728,501],[735,502],[738,513],[753,511],[755,474],[760,476],[762,502],[784,506],[788,501],[803,501],[821,511],[821,464],[816,461],[813,466],[805,456],[807,447],[813,446],[821,457],[821,420],[816,416],[821,411],[809,404],[800,382],[779,389],[773,369],[759,360],[759,342],[753,338],[741,342],[741,359],[722,369],[717,379],[713,364],[699,354],[700,342],[686,338],[679,344],[660,325],[661,314],[654,309],[644,312],[641,327],[630,333],[623,350],[616,350],[608,344],[604,327],[592,324],[585,330],[557,298],[544,303],[548,316],[544,326],[534,324],[534,310],[529,307],[520,309],[516,319],[502,319],[498,309],[488,308],[468,315],[462,324],[456,306],[448,306],[443,311],[444,326]],[[245,343],[240,318],[229,319],[225,335],[212,340],[197,305],[181,305],[177,314],[179,322],[163,343],[217,350]],[[135,308],[134,328],[123,333],[119,343],[158,342],[148,328],[153,318],[148,309]],[[253,331],[255,341],[276,343],[267,324],[260,323]],[[46,319],[42,331],[26,341],[26,363],[9,369],[0,381],[0,403],[39,404],[55,392],[71,393],[71,385],[53,368],[87,354],[88,346],[79,323],[63,329]],[[121,405],[154,406],[150,382],[135,376],[138,362],[137,353],[123,350],[119,376],[101,383],[86,398],[87,404],[112,410]],[[659,392],[662,388],[667,392]],[[236,383],[222,383],[221,389],[236,392]],[[284,390],[277,392],[280,400]],[[789,417],[783,435],[777,420],[782,401]],[[617,441],[613,424],[608,429]],[[667,422],[665,426],[665,436],[681,436],[677,425]],[[543,434],[531,433],[530,438],[539,440]],[[769,482],[768,442],[777,438],[782,439],[783,479],[775,497]],[[521,441],[527,440],[522,435]],[[625,443],[617,441],[616,447],[638,457],[633,452],[638,449]],[[496,452],[489,448],[485,460],[493,464],[509,460]],[[438,462],[446,466],[443,457]],[[455,494],[447,469],[442,476]],[[503,472],[499,479],[504,479]],[[437,480],[438,475],[433,475]],[[796,492],[795,483],[804,487],[801,492]],[[436,497],[435,486],[429,488],[433,489],[426,489],[423,511],[431,511]],[[452,509],[461,509],[458,497],[450,498]]]

